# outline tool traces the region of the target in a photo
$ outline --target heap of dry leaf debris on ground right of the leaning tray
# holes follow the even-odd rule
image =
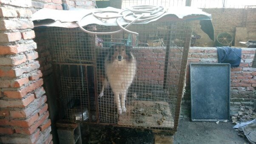
[[[239,122],[247,122],[256,118],[256,112],[253,111],[254,108],[251,106],[240,106],[240,111],[231,116],[233,124],[238,124]]]

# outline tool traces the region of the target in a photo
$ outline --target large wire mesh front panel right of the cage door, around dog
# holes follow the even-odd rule
[[[117,28],[97,27],[97,31],[105,32],[105,30],[114,31]],[[125,66],[124,63],[121,69],[113,69],[113,73],[114,70],[122,73],[119,77],[127,80],[127,83],[131,74],[125,74],[126,69],[133,68],[130,71],[136,71],[131,86],[127,90],[121,88],[122,91],[126,91],[126,112],[118,115],[115,90],[111,88],[111,83],[107,83],[104,95],[98,99],[100,121],[128,127],[174,130],[177,128],[179,119],[191,39],[190,22],[134,25],[129,30],[136,31],[139,36],[129,33],[97,35],[102,43],[102,47],[96,49],[99,65],[105,64],[106,51],[111,44],[125,43],[127,46],[132,46],[131,53],[136,58],[136,67]],[[115,63],[115,59],[111,60],[109,61],[111,64]],[[109,81],[118,77],[118,74],[108,76],[104,66],[97,66],[97,71],[97,93],[100,94],[105,84],[100,80],[102,76],[105,75]],[[122,94],[119,96],[122,97]],[[120,101],[122,101],[121,98]]]

